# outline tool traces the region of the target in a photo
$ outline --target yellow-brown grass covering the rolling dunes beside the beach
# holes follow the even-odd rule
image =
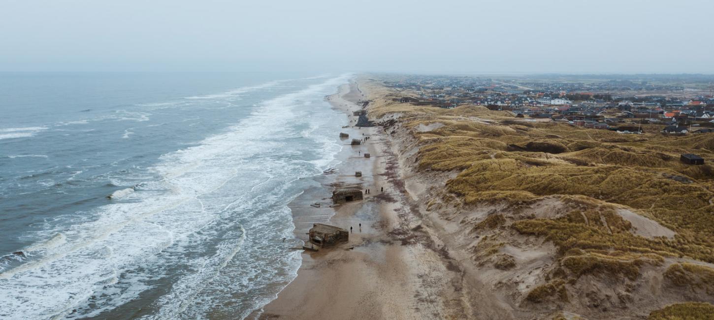
[[[464,208],[525,208],[556,197],[565,204],[565,214],[550,218],[525,211],[509,221],[498,216],[474,226],[483,231],[489,225],[505,225],[555,244],[558,269],[553,276],[558,279],[529,294],[529,301],[542,301],[541,296],[566,299],[565,286],[583,275],[636,281],[640,269],[662,266],[665,259],[714,263],[714,134],[618,134],[519,119],[482,106],[404,104],[395,98],[416,93],[388,88],[375,79],[363,81],[363,86],[371,92],[370,117],[380,119],[388,133],[398,126],[416,139],[418,171],[452,174],[443,186],[444,202],[457,199]],[[683,164],[680,154],[685,153],[702,156],[705,165]],[[645,216],[675,234],[637,234],[621,210]],[[714,274],[710,269],[693,275],[692,266],[677,266],[670,271],[670,281],[700,281]],[[708,294],[714,296],[714,289]],[[662,318],[666,314],[653,314],[652,319],[680,319]]]

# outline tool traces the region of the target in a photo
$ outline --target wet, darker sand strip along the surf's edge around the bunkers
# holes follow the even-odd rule
[[[358,117],[353,116],[353,111],[361,110],[361,106],[356,104],[359,99],[366,99],[359,89],[356,91],[356,82],[351,79],[348,84],[338,86],[338,91],[325,97],[325,100],[331,104],[336,111],[341,111],[348,117],[348,125],[341,129],[341,132],[349,135],[346,139],[340,139],[343,148],[336,155],[336,160],[339,161],[332,169],[332,172],[325,173],[313,177],[315,184],[303,191],[303,194],[293,199],[288,207],[293,214],[293,224],[295,225],[294,234],[296,239],[308,243],[308,230],[315,223],[333,224],[340,226],[343,229],[349,230],[353,228],[350,234],[348,244],[340,244],[336,247],[321,249],[321,251],[310,252],[303,251],[302,264],[298,269],[298,275],[288,286],[283,288],[277,298],[263,306],[262,309],[253,311],[248,316],[248,319],[273,319],[276,317],[291,318],[291,312],[283,313],[286,310],[283,306],[288,301],[295,301],[299,296],[303,295],[298,284],[303,282],[319,281],[319,277],[311,274],[308,270],[313,269],[321,260],[326,259],[326,256],[331,256],[333,251],[343,251],[348,247],[363,242],[364,237],[373,234],[375,229],[373,219],[370,219],[372,212],[356,216],[360,209],[363,209],[363,204],[368,203],[369,199],[375,194],[375,187],[370,187],[375,184],[374,174],[380,165],[378,164],[378,156],[376,155],[376,146],[374,144],[362,144],[352,146],[352,139],[362,139],[363,136],[369,136],[376,130],[375,127],[356,127]],[[344,99],[344,96],[351,94],[351,101]],[[337,133],[336,133],[337,134]],[[363,153],[370,152],[370,158],[364,158]],[[355,171],[361,171],[362,176],[356,177]],[[340,186],[359,186],[360,189],[371,189],[371,194],[364,194],[362,201],[354,201],[351,203],[333,206],[332,191]],[[318,202],[321,204],[319,208],[311,206]],[[361,226],[360,226],[361,225]],[[302,286],[302,285],[299,285]],[[328,302],[328,301],[324,301]]]

